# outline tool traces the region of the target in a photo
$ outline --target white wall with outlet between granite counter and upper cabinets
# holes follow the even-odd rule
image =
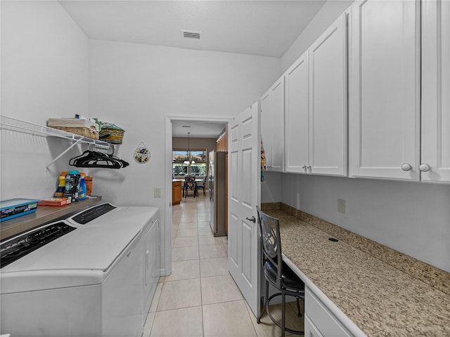
[[[285,174],[281,201],[450,270],[450,185]]]

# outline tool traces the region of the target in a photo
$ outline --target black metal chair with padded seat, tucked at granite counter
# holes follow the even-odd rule
[[[264,298],[264,309],[261,315],[257,317],[257,323],[261,322],[264,310],[269,315],[274,324],[281,328],[281,336],[285,336],[285,331],[296,335],[303,335],[304,331],[296,331],[285,326],[285,305],[286,296],[293,296],[297,300],[298,317],[302,317],[300,312],[300,300],[304,300],[304,282],[293,270],[283,262],[281,255],[280,224],[277,218],[263,213],[259,207],[258,220],[261,230],[262,246],[262,266],[264,268],[264,277],[266,279],[266,297]],[[269,297],[269,283],[279,292]],[[270,301],[276,296],[281,296],[281,324],[272,317],[269,311]]]

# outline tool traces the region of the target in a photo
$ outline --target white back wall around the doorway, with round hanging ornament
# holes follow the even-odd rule
[[[91,40],[90,112],[126,130],[117,154],[131,163],[93,173],[98,193],[115,204],[165,206],[165,116],[231,118],[258,100],[279,65],[277,58]],[[141,142],[152,154],[144,165],[131,156]]]

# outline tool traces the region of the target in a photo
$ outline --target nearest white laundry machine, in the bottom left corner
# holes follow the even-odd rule
[[[2,242],[0,333],[141,336],[141,234],[59,221]]]

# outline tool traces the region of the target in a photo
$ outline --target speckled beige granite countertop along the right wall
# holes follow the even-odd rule
[[[450,337],[449,273],[283,204],[262,208],[280,219],[285,256],[367,336]]]

